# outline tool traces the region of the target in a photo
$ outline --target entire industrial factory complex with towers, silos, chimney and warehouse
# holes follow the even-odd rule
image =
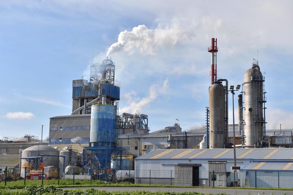
[[[218,77],[217,39],[211,39],[208,52],[206,127],[182,131],[176,122],[150,133],[147,113],[119,115],[120,87],[115,64],[107,58],[91,64],[89,80],[73,80],[72,113],[50,117],[47,141],[26,136],[0,142],[0,168],[15,168],[21,177],[54,167],[64,178],[74,174],[167,185],[293,188],[288,179],[293,177],[292,130],[266,129],[265,78],[258,61],[248,66],[243,83],[233,86],[229,78]],[[228,123],[228,100],[233,124]],[[123,177],[120,170],[133,174]]]

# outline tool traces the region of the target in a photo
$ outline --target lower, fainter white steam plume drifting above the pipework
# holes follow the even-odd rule
[[[154,101],[159,95],[166,94],[168,91],[168,79],[165,79],[162,86],[153,84],[149,87],[148,96],[144,98],[136,98],[135,92],[126,94],[128,100],[126,107],[121,108],[121,113],[140,114],[150,102]]]

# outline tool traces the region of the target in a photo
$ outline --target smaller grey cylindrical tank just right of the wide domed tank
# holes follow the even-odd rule
[[[77,162],[77,151],[73,150],[61,150],[59,153],[59,167],[60,173],[63,173],[63,167],[67,167],[68,165],[74,165]],[[64,158],[62,156],[65,156]],[[63,163],[64,160],[64,163]],[[64,164],[64,165],[63,165]],[[61,175],[61,174],[60,174]]]

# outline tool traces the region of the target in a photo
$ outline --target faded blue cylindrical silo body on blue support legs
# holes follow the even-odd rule
[[[90,124],[90,146],[116,146],[116,106],[91,106]]]

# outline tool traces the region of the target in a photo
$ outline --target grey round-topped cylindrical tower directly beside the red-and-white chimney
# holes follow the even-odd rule
[[[225,146],[225,89],[220,82],[209,87],[209,148]]]

